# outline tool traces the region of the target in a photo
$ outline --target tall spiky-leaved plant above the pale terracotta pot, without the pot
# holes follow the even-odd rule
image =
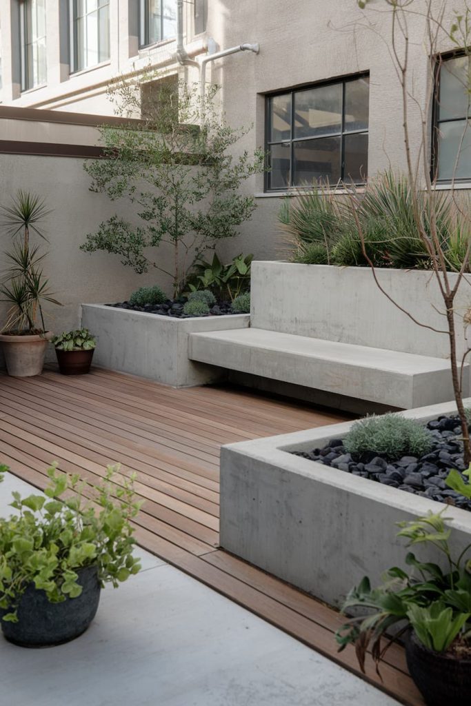
[[[47,253],[41,253],[39,245],[30,243],[32,234],[46,240],[41,224],[49,213],[39,196],[21,190],[12,198],[11,205],[1,208],[0,225],[13,239],[13,249],[6,253],[9,263],[6,278],[0,284],[1,301],[10,304],[3,329],[6,333],[45,333],[43,303],[60,306],[42,270]]]

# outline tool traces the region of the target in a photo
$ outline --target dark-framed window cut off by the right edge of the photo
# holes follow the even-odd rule
[[[434,164],[439,181],[471,179],[470,68],[470,56],[454,56],[439,66]]]

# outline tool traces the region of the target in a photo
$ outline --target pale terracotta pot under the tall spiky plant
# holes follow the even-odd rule
[[[40,375],[46,348],[52,336],[51,331],[32,336],[0,334],[8,375],[16,378]]]

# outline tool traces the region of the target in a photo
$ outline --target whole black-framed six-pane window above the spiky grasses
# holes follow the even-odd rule
[[[268,97],[268,191],[316,181],[364,182],[368,115],[368,76]]]

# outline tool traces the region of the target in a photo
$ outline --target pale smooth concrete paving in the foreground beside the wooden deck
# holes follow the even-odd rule
[[[6,490],[27,484],[10,477]],[[9,493],[8,493],[9,495]],[[8,706],[397,706],[277,628],[143,553],[89,630],[25,650],[0,638]],[[158,560],[157,560],[158,561]],[[3,701],[2,701],[3,703]]]

